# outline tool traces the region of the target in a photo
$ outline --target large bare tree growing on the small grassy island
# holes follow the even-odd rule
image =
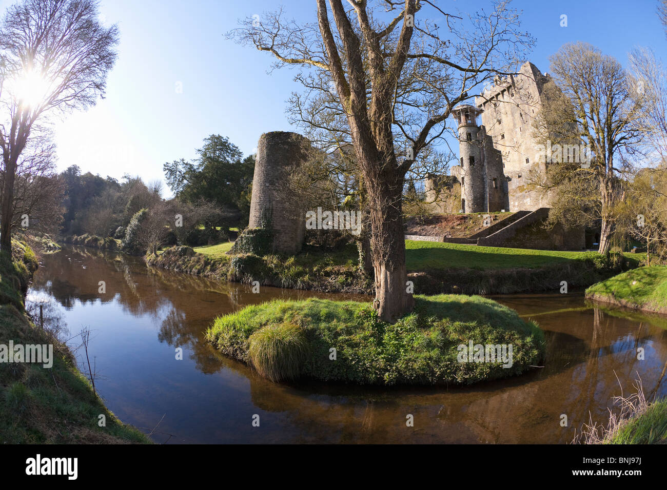
[[[431,1],[314,3],[317,23],[285,21],[279,10],[246,19],[230,36],[271,53],[277,67],[302,68],[296,79],[305,92],[293,94],[289,111],[312,141],[354,145],[368,196],[374,305],[394,322],[414,305],[406,291],[406,173],[420,151],[442,141],[454,106],[495,75],[514,73],[532,39],[505,1],[467,21]]]

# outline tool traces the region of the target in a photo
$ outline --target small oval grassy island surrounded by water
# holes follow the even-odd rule
[[[215,319],[207,339],[274,381],[470,384],[528,371],[544,354],[536,324],[478,296],[417,296],[412,314],[379,321],[369,303],[271,301]],[[512,345],[512,365],[459,362],[458,346]],[[332,359],[334,351],[336,359]]]

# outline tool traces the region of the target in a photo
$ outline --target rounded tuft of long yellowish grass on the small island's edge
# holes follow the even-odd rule
[[[267,325],[248,339],[248,357],[257,372],[271,381],[297,379],[308,354],[303,330],[293,323]]]

